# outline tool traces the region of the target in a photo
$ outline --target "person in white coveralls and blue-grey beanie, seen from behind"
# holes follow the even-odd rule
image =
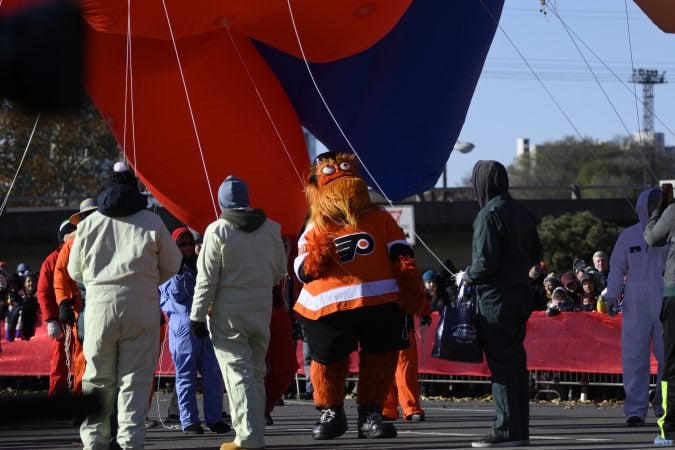
[[[272,288],[286,275],[286,252],[281,226],[250,207],[243,180],[228,176],[218,203],[222,214],[197,258],[191,328],[198,339],[211,336],[225,377],[236,437],[221,450],[263,448]]]

